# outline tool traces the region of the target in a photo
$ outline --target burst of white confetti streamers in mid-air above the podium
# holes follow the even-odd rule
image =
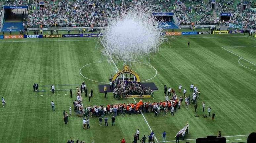
[[[108,60],[138,61],[152,57],[164,41],[164,31],[158,23],[152,9],[141,6],[109,18],[100,38],[102,54]]]

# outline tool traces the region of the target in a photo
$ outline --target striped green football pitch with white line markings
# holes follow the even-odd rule
[[[167,141],[173,141],[186,121],[190,125],[189,134],[181,142],[195,142],[196,138],[217,135],[218,131],[222,131],[229,142],[246,141],[248,134],[256,129],[256,38],[243,34],[167,38],[150,61],[145,58],[141,63],[130,63],[142,81],[150,79],[148,82],[154,82],[159,89],[154,92],[154,99],[143,100],[163,101],[163,84],[177,92],[179,84],[189,91],[193,83],[201,92],[197,113],[193,105],[186,109],[183,104],[174,116],[170,113],[158,117],[153,113],[117,116],[114,127],[99,126],[98,118],[91,117],[89,130],[83,130],[83,118],[74,113],[64,125],[63,110],[72,107],[73,111],[72,102],[76,97],[70,98],[68,90],[58,89],[70,89],[70,86],[56,86],[53,95],[49,87],[42,85],[81,84],[84,81],[88,89],[94,90],[91,103],[84,97],[84,106],[134,103],[133,99],[113,99],[112,93],[105,99],[104,94],[99,93],[100,83],[97,82],[108,83],[116,68],[101,55],[98,39],[0,40],[0,96],[4,96],[7,103],[0,107],[1,142],[64,143],[74,137],[86,143],[118,143],[122,138],[130,143],[137,129],[141,136],[154,131],[158,142],[166,131]],[[121,61],[115,63],[122,69]],[[39,83],[39,90],[46,91],[33,92],[33,83]],[[75,89],[75,85],[71,88]],[[56,104],[55,112],[51,110],[52,100]],[[206,112],[202,112],[202,102],[212,108],[211,113],[216,113],[214,121],[203,118]]]

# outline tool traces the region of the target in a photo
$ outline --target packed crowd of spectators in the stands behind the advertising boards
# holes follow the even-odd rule
[[[154,12],[175,12],[181,25],[190,24],[217,24],[228,25],[227,21],[220,21],[219,13],[232,13],[230,22],[243,24],[247,28],[255,28],[256,14],[254,1],[249,1],[251,8],[240,11],[243,1],[223,0],[216,2],[217,17],[208,1],[183,0],[184,5],[178,5],[177,0],[45,0],[45,7],[40,7],[37,0],[3,0],[3,5],[28,5],[29,14],[26,27],[103,27],[107,19],[122,13],[125,9],[137,4],[150,7]],[[2,9],[1,9],[2,10]],[[1,12],[2,13],[2,12]],[[0,14],[1,14],[0,13]],[[0,19],[1,20],[1,19]]]

